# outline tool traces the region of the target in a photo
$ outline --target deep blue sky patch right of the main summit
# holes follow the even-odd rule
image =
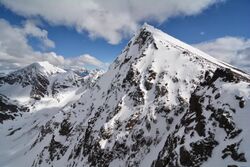
[[[229,0],[213,5],[196,16],[170,19],[159,28],[187,43],[199,43],[223,36],[249,38],[249,9],[249,0]]]

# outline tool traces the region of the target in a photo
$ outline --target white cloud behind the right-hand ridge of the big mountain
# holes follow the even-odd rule
[[[215,58],[250,72],[250,39],[228,36],[194,46]]]

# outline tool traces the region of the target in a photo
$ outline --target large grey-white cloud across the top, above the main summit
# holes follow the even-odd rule
[[[140,22],[159,23],[175,16],[189,16],[225,0],[1,0],[25,17],[42,17],[55,25],[87,31],[111,44],[133,33]]]

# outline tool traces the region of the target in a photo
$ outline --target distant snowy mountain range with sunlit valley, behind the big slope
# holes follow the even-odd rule
[[[0,77],[0,122],[23,112],[50,109],[74,101],[93,84],[101,72],[79,76],[48,62],[36,62]]]

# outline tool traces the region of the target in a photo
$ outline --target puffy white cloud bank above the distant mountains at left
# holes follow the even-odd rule
[[[0,70],[16,69],[36,61],[48,61],[53,65],[71,68],[83,68],[92,65],[105,67],[105,63],[90,55],[75,58],[64,58],[54,52],[40,52],[28,44],[28,36],[41,40],[46,47],[54,47],[48,39],[47,31],[40,29],[32,22],[26,22],[22,27],[12,26],[6,20],[0,19]]]

